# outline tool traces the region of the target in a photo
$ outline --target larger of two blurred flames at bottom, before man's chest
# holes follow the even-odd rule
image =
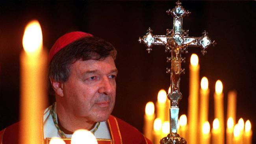
[[[98,142],[90,131],[79,129],[72,135],[71,144],[98,144]]]

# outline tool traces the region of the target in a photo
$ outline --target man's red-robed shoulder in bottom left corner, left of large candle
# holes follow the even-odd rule
[[[0,144],[18,144],[20,123],[16,122],[0,131]]]

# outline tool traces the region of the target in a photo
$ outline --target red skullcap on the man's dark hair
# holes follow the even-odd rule
[[[82,31],[73,31],[70,33],[66,33],[65,35],[61,36],[52,46],[49,56],[48,56],[48,61],[49,63],[52,60],[52,57],[56,55],[62,48],[70,44],[71,42],[74,42],[82,37],[93,37],[92,34],[90,33],[85,33]]]

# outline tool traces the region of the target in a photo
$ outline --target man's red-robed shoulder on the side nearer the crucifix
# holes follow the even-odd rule
[[[152,144],[148,138],[132,125],[112,115],[109,116],[109,120],[111,119],[116,122],[124,144]]]

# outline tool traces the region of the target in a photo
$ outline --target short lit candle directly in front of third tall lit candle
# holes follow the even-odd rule
[[[218,118],[215,118],[213,120],[211,134],[212,134],[212,144],[223,144],[222,142],[223,140],[220,137],[221,129],[220,129]]]

